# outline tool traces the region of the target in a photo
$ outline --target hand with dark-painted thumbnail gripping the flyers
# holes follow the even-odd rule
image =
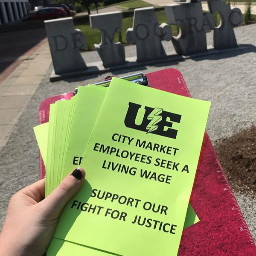
[[[10,200],[0,236],[0,256],[43,256],[61,210],[81,188],[84,169],[75,169],[47,197],[45,179],[18,191]]]

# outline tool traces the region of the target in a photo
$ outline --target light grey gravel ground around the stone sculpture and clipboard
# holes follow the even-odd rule
[[[113,74],[121,76],[139,71],[150,73],[170,67],[180,70],[192,96],[212,102],[207,131],[216,146],[224,138],[256,124],[256,25],[239,27],[235,32],[238,43],[247,44],[247,49],[189,59],[176,64],[165,63],[164,66],[158,64],[122,70]],[[211,37],[212,34],[208,33],[209,44]],[[170,42],[163,42],[163,45],[166,51],[173,51]],[[126,56],[134,56],[136,47],[125,47],[125,52]],[[97,52],[85,52],[83,55],[87,62],[100,61]],[[72,91],[78,85],[102,81],[105,76],[89,76],[51,84],[51,72],[52,66],[21,115],[7,145],[0,152],[0,227],[10,197],[17,190],[38,180],[38,146],[32,127],[38,124],[40,102],[49,96]],[[256,241],[256,198],[253,192],[242,194],[235,191],[235,195]]]

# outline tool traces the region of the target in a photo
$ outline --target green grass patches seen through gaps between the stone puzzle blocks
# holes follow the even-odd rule
[[[167,18],[165,11],[159,11],[157,13],[157,19],[159,24],[165,22],[167,23]],[[122,32],[117,32],[115,35],[115,42],[120,41],[121,36],[122,36],[122,43],[126,44],[126,30],[128,28],[132,27],[132,21],[133,17],[127,17],[122,19]],[[171,26],[172,27],[172,33],[173,35],[177,35],[178,33],[178,28],[177,26]],[[86,50],[92,50],[94,49],[94,44],[99,44],[101,35],[98,29],[91,29],[90,25],[77,25],[75,26],[76,29],[81,29],[81,31],[84,33],[86,41],[87,41],[87,46]]]

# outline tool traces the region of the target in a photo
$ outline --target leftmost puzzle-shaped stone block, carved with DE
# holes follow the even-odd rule
[[[87,69],[79,52],[86,46],[86,40],[81,30],[74,29],[73,18],[46,20],[44,24],[55,74]]]

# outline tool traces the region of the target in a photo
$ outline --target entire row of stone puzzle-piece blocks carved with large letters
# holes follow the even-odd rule
[[[186,1],[186,0],[176,0]],[[126,39],[129,43],[135,43],[137,47],[137,63],[134,57],[125,61],[125,49],[121,42],[115,43],[116,32],[121,32],[122,12],[109,12],[90,15],[90,26],[99,29],[101,43],[95,44],[102,63],[90,63],[86,66],[79,49],[84,49],[86,40],[79,29],[74,29],[73,18],[61,18],[45,21],[49,47],[56,77],[67,77],[89,73],[102,73],[106,70],[135,67],[149,63],[160,62],[167,56],[162,41],[170,41],[176,52],[186,56],[207,51],[206,32],[213,30],[215,49],[227,49],[237,47],[234,27],[243,22],[243,15],[238,8],[231,9],[222,0],[208,1],[209,13],[202,10],[201,0],[191,0],[192,3],[174,4],[165,6],[168,23],[159,26],[157,15],[153,7],[134,10],[133,27],[126,31]],[[221,23],[215,27],[213,14],[218,12]],[[179,34],[172,36],[169,25],[179,27]],[[236,49],[236,48],[235,48]],[[212,51],[217,52],[217,51]],[[209,52],[210,53],[210,52]],[[175,57],[176,58],[176,57]],[[169,60],[169,59],[168,59]],[[104,67],[103,67],[104,66]],[[119,66],[119,67],[118,67]],[[69,74],[67,74],[69,73]]]

